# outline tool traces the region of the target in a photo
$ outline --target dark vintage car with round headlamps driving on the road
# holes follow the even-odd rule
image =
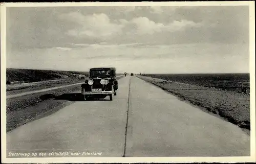
[[[104,99],[110,96],[112,101],[117,89],[118,82],[114,67],[91,68],[89,80],[81,85],[84,100]]]

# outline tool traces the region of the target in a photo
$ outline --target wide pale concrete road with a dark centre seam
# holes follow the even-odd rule
[[[118,84],[113,101],[77,101],[10,131],[7,157],[9,152],[250,156],[250,137],[239,127],[137,77],[124,77]]]

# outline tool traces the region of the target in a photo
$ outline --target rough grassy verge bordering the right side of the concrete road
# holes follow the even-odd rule
[[[250,130],[250,96],[242,93],[138,76],[192,104]]]

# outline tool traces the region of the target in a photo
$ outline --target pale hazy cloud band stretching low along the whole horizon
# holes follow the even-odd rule
[[[63,52],[30,49],[15,54],[7,56],[8,67],[84,71],[109,64],[116,66],[118,71],[145,70],[151,73],[230,73],[248,72],[249,69],[248,49],[243,45],[176,44],[137,48],[130,45],[102,47],[96,44],[95,47],[90,45]]]

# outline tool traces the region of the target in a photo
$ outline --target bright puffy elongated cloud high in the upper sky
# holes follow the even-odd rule
[[[119,19],[113,20],[108,15],[92,14],[82,15],[78,12],[72,12],[60,16],[80,25],[74,29],[68,30],[67,35],[73,37],[90,37],[110,40],[114,37],[125,35],[153,35],[159,32],[175,32],[182,30],[184,27],[200,27],[193,21],[181,20],[173,21],[169,24],[157,23],[147,17],[135,17],[131,20]]]

